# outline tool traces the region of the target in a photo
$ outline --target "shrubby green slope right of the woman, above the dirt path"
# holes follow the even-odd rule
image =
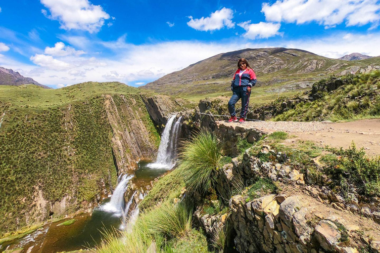
[[[340,85],[330,90],[331,85]],[[275,121],[352,121],[380,117],[380,71],[334,77],[313,84],[314,101],[304,101],[277,115]],[[277,101],[274,105],[279,104]]]

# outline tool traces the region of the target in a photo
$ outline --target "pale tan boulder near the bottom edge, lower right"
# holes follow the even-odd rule
[[[340,232],[330,220],[321,220],[315,228],[315,237],[326,251],[334,251],[339,243]]]

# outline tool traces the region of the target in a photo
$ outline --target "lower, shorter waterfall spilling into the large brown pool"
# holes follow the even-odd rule
[[[115,215],[121,216],[124,211],[124,192],[128,186],[129,181],[134,175],[123,175],[119,184],[116,186],[115,191],[111,197],[111,200],[104,206],[100,207],[101,210],[107,212],[114,212]]]

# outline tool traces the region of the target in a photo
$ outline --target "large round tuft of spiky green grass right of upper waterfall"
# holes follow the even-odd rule
[[[216,182],[221,168],[221,147],[215,133],[201,130],[184,141],[180,156],[182,161],[178,169],[189,192],[206,194]]]

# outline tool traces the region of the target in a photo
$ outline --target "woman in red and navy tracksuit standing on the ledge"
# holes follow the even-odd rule
[[[244,123],[247,117],[249,96],[251,95],[251,87],[256,84],[256,75],[246,59],[238,60],[238,70],[235,72],[234,79],[231,82],[231,90],[233,95],[228,102],[228,110],[231,119],[228,122],[238,122],[236,117],[235,104],[241,98],[241,111],[239,123]]]

